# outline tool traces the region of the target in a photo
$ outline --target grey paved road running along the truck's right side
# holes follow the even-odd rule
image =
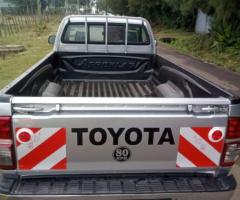
[[[203,62],[197,58],[182,54],[164,45],[158,46],[158,54],[163,58],[181,66],[185,70],[204,77],[220,87],[240,96],[240,75],[213,64]],[[231,200],[240,199],[240,159],[234,165],[234,174],[238,186]]]

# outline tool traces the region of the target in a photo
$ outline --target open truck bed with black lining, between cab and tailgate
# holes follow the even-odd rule
[[[160,56],[70,53],[50,54],[2,92],[33,97],[229,97]]]

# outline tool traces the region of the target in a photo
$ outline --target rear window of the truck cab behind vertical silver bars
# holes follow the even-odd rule
[[[87,30],[87,33],[86,33]],[[108,23],[107,39],[105,23],[85,23],[68,24],[63,32],[63,43],[75,44],[107,44],[124,45],[127,37],[128,45],[149,45],[150,39],[146,27],[141,24],[128,24],[126,36],[126,24]],[[86,40],[87,38],[87,40]]]

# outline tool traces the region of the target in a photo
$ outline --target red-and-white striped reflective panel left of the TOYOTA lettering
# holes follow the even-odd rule
[[[19,140],[21,133],[31,132],[29,141]],[[65,128],[17,128],[16,139],[19,169],[66,169]]]

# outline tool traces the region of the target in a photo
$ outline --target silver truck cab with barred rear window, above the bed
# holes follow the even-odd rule
[[[54,51],[156,54],[149,22],[141,17],[69,15],[62,20]]]

